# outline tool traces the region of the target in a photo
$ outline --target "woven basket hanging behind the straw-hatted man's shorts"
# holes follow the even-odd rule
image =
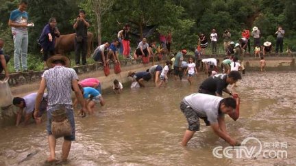
[[[51,116],[53,118],[51,122],[51,133],[53,137],[59,138],[72,135],[71,124],[66,117],[66,111],[64,109],[53,111]]]

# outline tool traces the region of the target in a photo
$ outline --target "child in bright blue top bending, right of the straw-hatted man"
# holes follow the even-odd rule
[[[105,101],[103,100],[103,97],[97,89],[93,87],[82,87],[81,85],[79,85],[79,89],[82,92],[84,100],[86,102],[86,109],[88,111],[88,114],[93,114],[95,112],[94,107],[97,103],[100,103],[101,106],[105,105]],[[73,105],[74,107],[76,107],[77,98],[75,98]],[[78,115],[80,114],[82,114],[82,112],[78,113]]]

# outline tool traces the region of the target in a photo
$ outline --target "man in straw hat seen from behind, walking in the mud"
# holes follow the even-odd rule
[[[73,103],[71,98],[71,92],[73,86],[75,96],[82,106],[82,112],[86,113],[86,105],[82,92],[78,87],[78,77],[73,68],[69,68],[71,61],[68,57],[62,55],[53,55],[47,59],[47,66],[50,68],[46,70],[41,79],[40,87],[35,102],[34,117],[38,117],[40,102],[42,96],[47,88],[47,133],[49,142],[50,156],[47,158],[47,162],[56,162],[56,138],[51,132],[51,113],[57,109],[65,108],[66,117],[68,118],[72,135],[64,137],[64,143],[62,145],[62,162],[66,162],[72,141],[75,141],[75,121]]]

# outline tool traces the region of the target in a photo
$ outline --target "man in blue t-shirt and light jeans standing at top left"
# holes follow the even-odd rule
[[[12,35],[14,40],[14,70],[21,72],[20,58],[23,71],[27,72],[27,47],[28,47],[28,31],[27,20],[28,14],[27,1],[21,0],[18,9],[10,13],[8,25],[12,27]]]

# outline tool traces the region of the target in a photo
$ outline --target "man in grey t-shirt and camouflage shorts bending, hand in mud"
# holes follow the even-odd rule
[[[180,109],[184,113],[188,129],[186,130],[182,146],[187,146],[195,131],[199,131],[199,118],[208,118],[214,133],[230,143],[231,146],[240,146],[240,143],[228,135],[226,131],[224,114],[232,113],[236,109],[234,98],[221,98],[208,94],[190,94],[183,98]]]

